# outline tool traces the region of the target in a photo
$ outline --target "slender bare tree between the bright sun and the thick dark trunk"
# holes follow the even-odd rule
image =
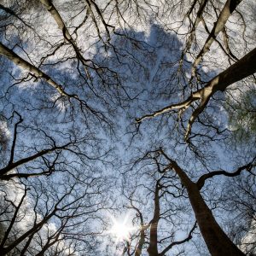
[[[128,200],[125,208],[136,213],[139,227],[131,236],[130,251],[137,256],[144,252],[148,255],[183,253],[183,244],[192,239],[196,228],[196,221],[189,219],[191,209],[184,188],[154,152],[145,154],[136,166],[140,172],[125,182]],[[177,238],[179,232],[185,234],[183,238]]]

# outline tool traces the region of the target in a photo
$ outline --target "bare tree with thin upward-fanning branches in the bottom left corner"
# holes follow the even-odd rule
[[[92,230],[90,223],[102,221],[105,185],[98,187],[101,182],[93,177],[87,182],[79,184],[72,178],[64,181],[59,178],[58,183],[48,181],[47,189],[42,179],[29,185],[14,179],[2,183],[1,254],[44,255],[52,250],[55,255],[65,252],[72,255],[80,250],[84,252],[88,244],[94,247],[94,234],[101,230]]]

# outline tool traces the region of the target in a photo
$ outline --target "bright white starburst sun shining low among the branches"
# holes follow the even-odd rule
[[[131,232],[135,228],[128,223],[128,215],[123,220],[112,217],[112,227],[108,232],[116,238],[117,241],[129,241]]]

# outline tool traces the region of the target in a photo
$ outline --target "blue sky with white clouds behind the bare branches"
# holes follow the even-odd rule
[[[73,183],[77,183],[78,189],[73,190],[69,201],[79,198],[81,209],[88,207],[84,205],[84,201],[88,201],[96,209],[96,212],[88,214],[88,222],[87,215],[74,218],[77,224],[83,223],[85,219],[79,228],[71,220],[71,227],[66,227],[71,238],[66,238],[65,232],[61,234],[61,242],[67,242],[68,246],[71,242],[70,247],[77,249],[77,255],[84,255],[84,247],[89,248],[88,255],[96,255],[98,250],[102,250],[102,255],[107,251],[110,255],[119,255],[125,242],[117,242],[117,231],[109,230],[116,219],[120,222],[120,219],[127,216],[130,218],[128,226],[137,227],[139,218],[136,211],[128,211],[131,201],[143,213],[145,224],[153,217],[153,188],[161,175],[155,172],[152,159],[144,157],[148,151],[164,148],[193,181],[212,170],[224,169],[231,172],[253,158],[253,136],[246,144],[236,142],[235,150],[232,135],[229,131],[224,131],[230,129],[225,102],[229,100],[232,105],[232,102],[241,100],[239,83],[227,93],[214,96],[209,108],[201,113],[203,124],[196,122],[193,126],[191,145],[183,142],[182,125],[187,123],[191,108],[183,113],[181,119],[173,112],[145,120],[140,125],[135,122],[143,114],[182,101],[191,91],[204,86],[232,63],[215,42],[201,62],[201,81],[194,83],[194,87],[189,85],[192,62],[204,44],[207,32],[201,22],[195,34],[196,44],[192,44],[181,63],[180,58],[189,31],[189,19],[183,20],[188,6],[181,8],[177,5],[172,8],[167,3],[150,1],[150,6],[145,2],[138,2],[140,6],[137,7],[136,3],[130,5],[128,2],[121,2],[119,13],[118,9],[114,9],[113,2],[106,4],[105,1],[96,1],[100,9],[104,9],[103,17],[109,25],[104,26],[101,17],[96,14],[96,9],[93,9],[96,22],[93,15],[83,22],[86,15],[84,3],[55,1],[55,8],[62,20],[65,20],[84,57],[83,65],[83,61],[78,61],[72,44],[63,39],[61,30],[49,12],[40,5],[28,5],[22,9],[25,2],[19,5],[15,1],[3,1],[3,5],[14,9],[23,22],[11,16],[7,18],[2,9],[1,43],[47,73],[73,97],[61,96],[47,81],[36,79],[24,68],[17,67],[1,56],[1,131],[8,138],[8,147],[5,150],[2,148],[0,153],[3,158],[2,165],[8,165],[15,124],[19,120],[14,111],[20,113],[24,119],[17,130],[15,160],[44,148],[71,143],[65,150],[56,150],[28,162],[14,172],[40,172],[51,166],[55,168],[55,173],[49,177],[22,180],[28,187],[32,187],[26,201],[32,201],[35,216],[46,214],[47,207],[53,207],[62,193],[67,192]],[[230,48],[237,58],[241,58],[255,45],[255,3],[245,2],[239,5],[240,13],[232,15],[226,25]],[[219,3],[218,9],[222,6],[223,3]],[[139,15],[137,9],[140,10]],[[209,6],[208,11],[209,14],[204,18],[210,31],[216,15],[212,6]],[[79,29],[76,30],[78,26]],[[110,41],[107,37],[108,30]],[[221,35],[218,35],[218,40],[222,42]],[[242,83],[245,84],[243,88],[246,91],[255,86],[250,79]],[[193,106],[195,107],[196,105]],[[218,130],[209,129],[211,125],[224,132],[218,134]],[[201,135],[194,137],[196,133]],[[165,166],[164,160],[160,161],[161,167]],[[162,197],[161,211],[164,218],[160,221],[159,236],[170,236],[171,241],[180,240],[184,234],[188,234],[195,217],[188,199],[176,199],[171,195],[183,190],[177,177],[172,173],[166,176],[163,180],[170,186],[167,189],[170,193]],[[222,210],[222,205],[218,202],[224,182],[225,179],[214,178],[201,192],[210,207],[216,207],[217,204],[214,212],[220,224],[224,224],[229,214]],[[18,195],[17,191],[23,185],[17,184],[16,190],[12,185],[4,183],[4,186],[3,191],[6,189],[12,194],[11,198],[14,198],[13,192]],[[38,204],[33,194],[37,189],[40,191]],[[84,192],[88,193],[80,198]],[[49,198],[52,196],[49,201],[48,195]],[[23,207],[21,212],[25,211],[26,203]],[[7,218],[10,218],[8,214]],[[28,223],[26,218],[23,221]],[[17,228],[22,223],[17,220]],[[53,230],[60,224],[57,217],[52,222],[49,221]],[[77,234],[74,234],[75,229],[79,230]],[[83,236],[84,233],[88,234],[88,239]],[[81,241],[78,239],[77,243],[72,244],[72,237],[79,237]],[[131,244],[134,247],[137,238],[132,239],[134,240]],[[189,251],[191,255],[198,253],[196,250],[200,250],[198,244],[201,242],[199,230],[196,230],[193,242],[188,246],[184,245],[184,255],[189,255]],[[163,244],[166,245],[167,242]],[[163,247],[160,246],[160,249]],[[183,246],[175,247],[170,255],[181,252],[182,249]],[[205,247],[202,246],[201,251],[204,250]]]

